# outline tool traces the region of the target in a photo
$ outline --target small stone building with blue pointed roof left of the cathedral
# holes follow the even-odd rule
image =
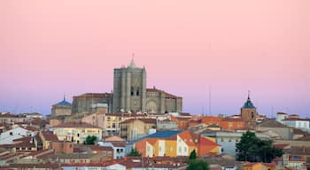
[[[66,101],[66,97],[64,100],[59,102],[58,104],[53,104],[51,106],[51,116],[70,116],[71,115],[72,105]]]

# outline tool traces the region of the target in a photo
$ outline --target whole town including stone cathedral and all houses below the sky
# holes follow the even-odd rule
[[[147,88],[145,67],[114,69],[113,90],[66,97],[50,114],[0,112],[1,169],[309,169],[310,119],[260,114],[250,94],[234,115],[182,111],[182,97]],[[271,161],[240,159],[245,133],[283,151]],[[264,157],[267,157],[266,155]]]

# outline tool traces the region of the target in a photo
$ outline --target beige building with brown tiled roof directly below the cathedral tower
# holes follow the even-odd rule
[[[150,130],[156,131],[155,119],[129,119],[120,123],[120,137],[127,141],[134,141],[144,135],[149,135]]]

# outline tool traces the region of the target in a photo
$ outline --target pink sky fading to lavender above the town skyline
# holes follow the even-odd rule
[[[0,1],[0,111],[110,92],[135,53],[183,111],[310,113],[309,0]]]

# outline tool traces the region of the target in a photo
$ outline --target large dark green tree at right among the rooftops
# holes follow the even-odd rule
[[[271,140],[261,140],[255,133],[247,131],[236,143],[236,159],[250,162],[271,162],[276,157],[281,157],[283,151],[272,146]]]

